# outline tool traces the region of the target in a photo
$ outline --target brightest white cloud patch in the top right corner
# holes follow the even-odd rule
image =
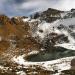
[[[61,10],[70,10],[75,8],[75,0],[60,0],[55,5],[54,8]]]

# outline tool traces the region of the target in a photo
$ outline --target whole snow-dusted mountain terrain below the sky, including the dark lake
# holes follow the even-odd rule
[[[75,9],[0,15],[0,75],[74,75],[74,63]]]

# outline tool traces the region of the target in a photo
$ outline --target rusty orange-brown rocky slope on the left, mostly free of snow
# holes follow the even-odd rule
[[[27,22],[0,15],[0,26],[1,61],[10,61],[15,55],[40,50],[40,44],[31,36]]]

